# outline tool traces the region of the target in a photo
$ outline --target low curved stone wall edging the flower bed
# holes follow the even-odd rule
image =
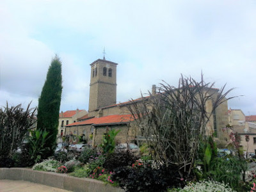
[[[123,192],[109,184],[95,179],[70,177],[66,174],[40,172],[29,168],[0,168],[0,179],[27,180],[54,188],[77,192]]]

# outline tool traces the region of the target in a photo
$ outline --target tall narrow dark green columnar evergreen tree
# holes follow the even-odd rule
[[[62,92],[61,61],[56,55],[47,72],[47,77],[38,99],[37,130],[49,132],[43,158],[51,156],[56,147],[56,136],[58,134],[59,111]]]

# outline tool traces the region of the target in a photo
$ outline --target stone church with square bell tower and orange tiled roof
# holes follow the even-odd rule
[[[88,114],[79,118],[78,122],[73,122],[65,126],[65,134],[82,135],[86,141],[90,141],[93,147],[99,145],[102,136],[108,130],[116,129],[120,132],[116,136],[118,143],[142,140],[138,127],[132,122],[134,119],[127,108],[131,101],[116,104],[116,67],[118,63],[102,60],[93,61],[90,64],[90,97]],[[211,90],[218,94],[218,89]],[[152,86],[152,93],[156,93],[156,86]],[[140,102],[147,99],[143,97],[133,102]],[[207,106],[211,109],[211,104]],[[211,117],[207,129],[214,130],[218,134],[218,139],[227,141],[228,136],[221,133],[221,129],[228,124],[227,100],[216,109],[216,113]]]

